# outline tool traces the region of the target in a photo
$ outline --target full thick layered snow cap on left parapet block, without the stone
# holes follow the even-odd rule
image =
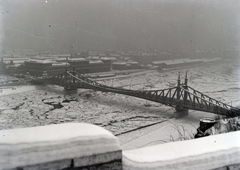
[[[119,150],[119,141],[115,136],[87,123],[2,130],[0,170]]]

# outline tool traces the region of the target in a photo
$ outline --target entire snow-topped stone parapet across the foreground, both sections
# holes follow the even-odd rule
[[[237,170],[240,132],[122,151],[105,129],[66,123],[0,131],[0,170]]]

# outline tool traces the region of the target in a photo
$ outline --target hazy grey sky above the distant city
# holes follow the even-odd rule
[[[0,0],[3,49],[219,50],[239,46],[239,0]],[[0,29],[1,29],[0,26]]]

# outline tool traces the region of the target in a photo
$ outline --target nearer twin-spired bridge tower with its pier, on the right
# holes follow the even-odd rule
[[[188,89],[188,78],[187,78],[187,72],[185,75],[185,82],[184,82],[184,89]],[[185,109],[183,105],[185,105],[188,102],[188,94],[187,91],[184,91],[183,94],[183,103],[181,103],[181,75],[180,72],[178,73],[178,81],[177,81],[177,106],[175,108],[174,117],[180,118],[183,116],[188,115],[188,109]]]

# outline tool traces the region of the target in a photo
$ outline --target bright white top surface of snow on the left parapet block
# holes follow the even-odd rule
[[[115,138],[105,129],[87,123],[66,123],[48,126],[1,130],[1,144],[58,142],[73,138]]]

